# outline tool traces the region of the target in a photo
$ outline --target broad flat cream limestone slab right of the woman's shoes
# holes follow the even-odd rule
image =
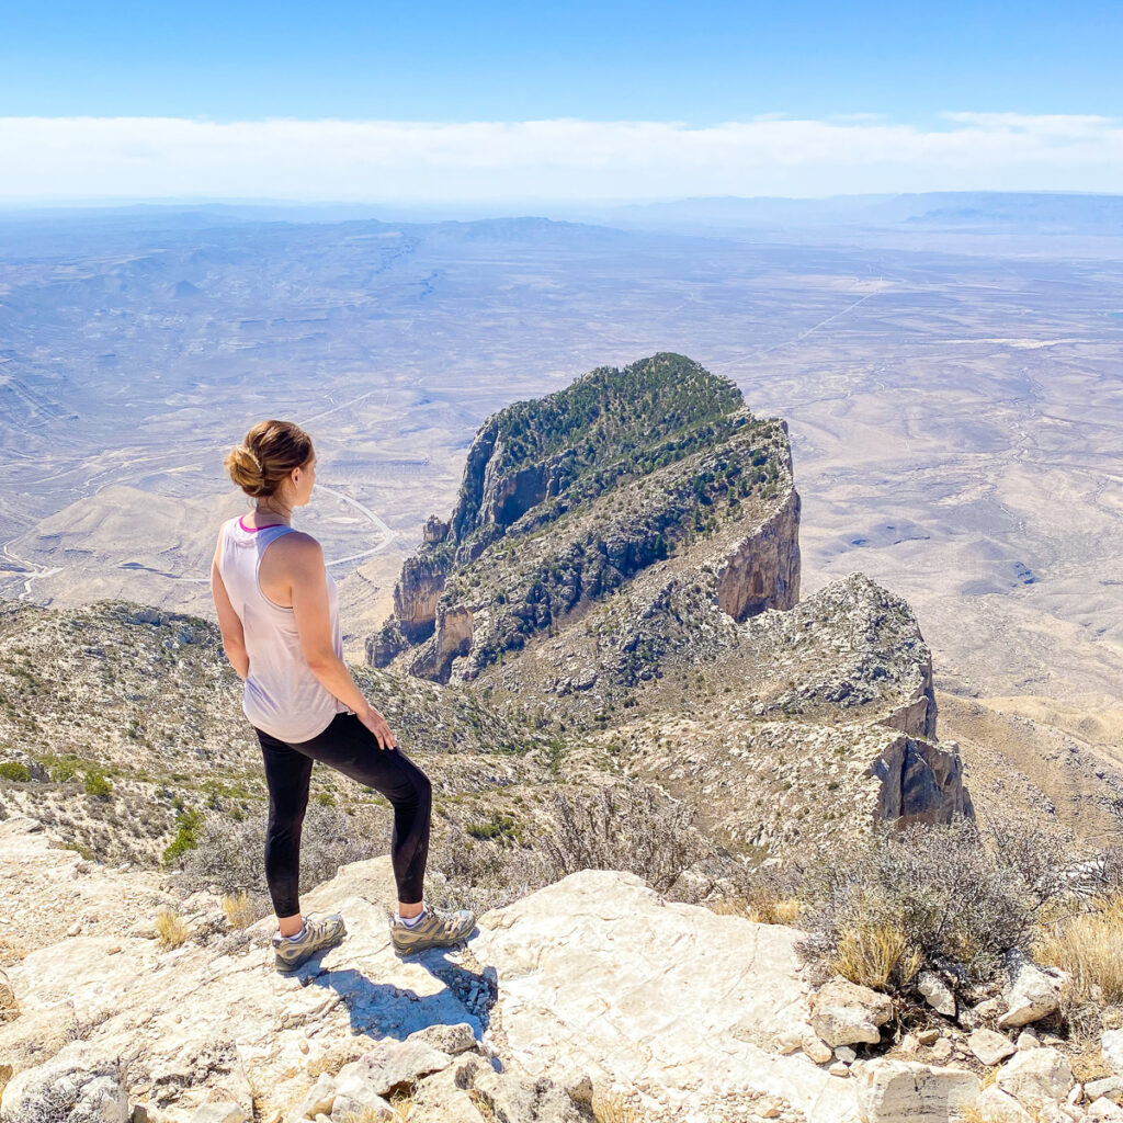
[[[768,1051],[807,1021],[791,929],[667,902],[609,870],[492,910],[480,929],[469,947],[500,980],[489,1034],[533,1074],[587,1072],[668,1104],[770,1093],[809,1123],[858,1117],[852,1080]]]

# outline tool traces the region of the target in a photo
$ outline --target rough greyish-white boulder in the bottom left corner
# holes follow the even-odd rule
[[[17,1072],[0,1101],[3,1123],[51,1120],[58,1123],[128,1123],[129,1104],[121,1067],[110,1057],[74,1041],[54,1058]]]

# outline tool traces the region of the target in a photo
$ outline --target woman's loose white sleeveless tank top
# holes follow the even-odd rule
[[[252,724],[286,742],[307,741],[327,729],[337,713],[349,712],[309,668],[293,610],[271,601],[257,581],[262,555],[293,529],[284,523],[247,527],[240,518],[228,519],[218,566],[249,655],[243,712]],[[327,578],[332,646],[343,659],[339,596],[330,573]]]

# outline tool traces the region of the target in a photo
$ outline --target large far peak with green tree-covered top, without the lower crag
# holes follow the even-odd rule
[[[402,666],[440,682],[475,677],[700,539],[730,540],[714,595],[734,619],[798,599],[786,427],[676,355],[590,372],[489,418],[445,537],[428,526],[367,655],[385,666],[421,645]],[[438,601],[457,610],[455,642],[435,634]]]

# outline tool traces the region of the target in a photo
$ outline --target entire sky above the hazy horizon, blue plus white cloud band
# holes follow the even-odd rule
[[[1119,192],[1121,33],[1119,0],[0,0],[0,201]]]

